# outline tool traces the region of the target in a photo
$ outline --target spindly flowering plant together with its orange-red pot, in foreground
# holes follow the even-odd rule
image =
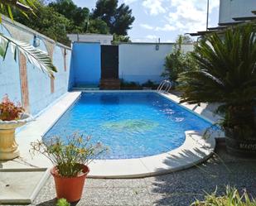
[[[56,184],[57,199],[69,202],[80,200],[86,176],[89,173],[89,163],[95,157],[106,151],[100,143],[89,143],[90,137],[83,137],[75,133],[62,141],[60,137],[53,137],[48,141],[31,143],[31,154],[41,153],[51,160],[51,169]]]

